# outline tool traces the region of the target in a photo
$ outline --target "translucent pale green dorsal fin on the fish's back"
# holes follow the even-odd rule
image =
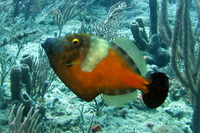
[[[127,55],[130,56],[139,69],[140,74],[144,76],[147,72],[147,66],[144,57],[137,46],[131,40],[124,37],[117,38],[113,43],[122,48]]]

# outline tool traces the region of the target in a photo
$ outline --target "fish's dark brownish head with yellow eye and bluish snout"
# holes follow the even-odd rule
[[[89,34],[72,34],[59,38],[47,38],[42,47],[53,68],[58,64],[70,66],[77,58],[84,57],[89,47],[90,36]]]

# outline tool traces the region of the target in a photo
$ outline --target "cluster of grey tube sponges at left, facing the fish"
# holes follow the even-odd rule
[[[44,82],[42,84],[42,87],[39,86],[39,90],[38,88],[36,88],[37,86],[33,84],[35,83],[35,80],[37,81],[39,80],[41,82],[42,76],[39,76],[39,78],[37,79],[34,77],[33,73],[37,69],[35,69],[35,66],[33,65],[34,61],[31,55],[22,56],[20,62],[21,62],[20,65],[15,65],[11,69],[10,89],[11,89],[12,102],[16,103],[18,101],[19,103],[23,103],[24,105],[23,116],[26,116],[32,107],[36,108],[36,106],[38,106],[34,101],[34,99],[38,97],[44,98],[44,94],[46,93],[49,84]],[[41,69],[38,72],[41,72]],[[34,82],[32,79],[35,79]],[[46,78],[43,79],[46,80]],[[23,89],[24,85],[26,91],[24,91]],[[38,90],[38,92],[34,90]],[[40,105],[38,108],[40,108],[39,113],[41,114],[41,117],[44,117],[46,108],[43,105]]]

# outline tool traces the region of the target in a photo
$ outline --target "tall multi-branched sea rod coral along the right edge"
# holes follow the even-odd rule
[[[161,12],[167,20],[167,0],[161,1]],[[199,2],[196,1],[197,14],[199,16]],[[198,17],[198,22],[200,21]],[[161,23],[164,28],[163,38],[171,46],[171,65],[177,79],[181,84],[191,91],[192,94],[192,130],[194,133],[200,132],[200,45],[194,36],[190,17],[190,0],[178,0],[174,29],[166,23]],[[164,29],[164,30],[163,30]],[[196,30],[199,26],[196,27]],[[169,30],[169,31],[168,31]],[[172,34],[171,34],[172,33]]]

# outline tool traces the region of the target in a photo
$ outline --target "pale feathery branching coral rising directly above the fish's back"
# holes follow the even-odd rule
[[[123,25],[123,14],[127,5],[125,2],[118,2],[110,7],[107,17],[104,20],[97,20],[90,24],[82,23],[79,33],[88,33],[113,41],[120,35],[117,31]]]

